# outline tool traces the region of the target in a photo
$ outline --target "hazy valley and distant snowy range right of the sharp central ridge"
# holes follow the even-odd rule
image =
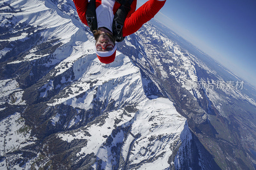
[[[138,51],[141,54],[145,51],[146,59],[130,55],[132,61],[135,60],[141,70],[153,70],[149,75],[169,99],[175,101],[177,111],[187,118],[189,128],[222,169],[255,168],[255,149],[252,149],[255,148],[255,89],[246,82],[242,90],[228,86],[218,89],[218,81],[242,79],[188,42],[178,41],[180,37],[170,39],[175,33],[163,31],[167,29],[163,25],[151,23],[131,38],[134,40],[138,37],[136,34],[140,35],[137,47],[141,50],[130,48],[128,52],[136,56]],[[190,48],[184,48],[188,46]],[[124,50],[124,54],[129,56],[128,53]],[[206,84],[202,89],[186,85],[203,81]],[[214,89],[208,82],[215,82]]]

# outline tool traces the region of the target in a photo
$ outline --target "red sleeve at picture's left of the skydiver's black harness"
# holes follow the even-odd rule
[[[76,6],[76,11],[78,13],[79,18],[86,26],[88,26],[87,20],[86,20],[86,9],[89,3],[88,0],[73,0],[73,1]]]

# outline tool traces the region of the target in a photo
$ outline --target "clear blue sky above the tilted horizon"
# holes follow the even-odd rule
[[[256,86],[256,1],[167,0],[155,19]]]

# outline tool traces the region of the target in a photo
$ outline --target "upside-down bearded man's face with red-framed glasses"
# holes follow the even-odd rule
[[[106,52],[106,51],[112,51],[115,45],[107,33],[102,33],[100,34],[98,40],[96,41],[95,46],[97,51]]]

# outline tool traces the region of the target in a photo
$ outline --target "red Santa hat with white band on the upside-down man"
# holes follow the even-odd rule
[[[114,46],[112,51],[97,51],[95,46],[96,55],[99,58],[101,63],[109,64],[112,63],[116,58],[116,45]]]

